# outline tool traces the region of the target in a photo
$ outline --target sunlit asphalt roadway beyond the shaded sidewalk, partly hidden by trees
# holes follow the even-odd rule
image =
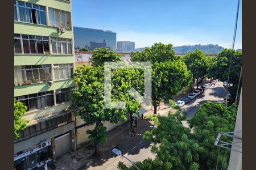
[[[200,107],[201,104],[207,102],[207,101],[220,101],[223,100],[225,96],[225,90],[222,86],[222,82],[217,82],[215,86],[210,86],[203,94],[200,94],[195,99],[193,99],[189,104],[184,105],[181,109],[183,111],[187,111],[187,117],[191,118],[193,114],[197,111],[197,109]],[[162,114],[161,114],[162,115]],[[164,115],[164,114],[163,114]],[[187,121],[183,121],[184,126],[188,126]],[[152,143],[149,141],[143,141],[142,139],[139,139],[133,146],[130,146],[128,151],[126,152],[125,156],[130,159],[132,162],[136,161],[142,161],[146,158],[155,158],[155,155],[153,155],[150,152]],[[120,150],[122,150],[120,148]],[[126,160],[125,158],[121,158],[121,156],[112,155],[110,158],[106,159],[101,164],[98,164],[97,166],[90,166],[89,168],[85,169],[116,169],[118,162],[121,161],[125,163],[127,166],[131,166],[131,163]]]

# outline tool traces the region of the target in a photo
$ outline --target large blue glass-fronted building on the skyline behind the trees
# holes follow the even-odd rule
[[[117,33],[93,28],[73,27],[75,49],[88,48],[110,48],[116,50]]]

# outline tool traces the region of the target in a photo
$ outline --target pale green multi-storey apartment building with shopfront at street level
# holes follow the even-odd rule
[[[73,43],[71,0],[14,1],[14,97],[27,105],[29,121],[14,141],[15,169],[75,150]]]

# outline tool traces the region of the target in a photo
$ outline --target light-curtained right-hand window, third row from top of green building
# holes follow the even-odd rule
[[[54,79],[71,79],[73,74],[73,64],[55,64],[53,65]]]

